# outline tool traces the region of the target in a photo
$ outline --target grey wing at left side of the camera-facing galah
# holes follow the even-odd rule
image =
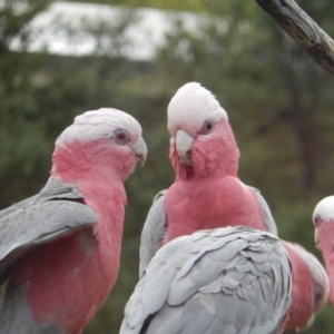
[[[147,218],[145,220],[139,248],[139,277],[156,252],[160,248],[167,230],[167,216],[164,208],[165,194],[167,190],[159,191],[153,202]]]

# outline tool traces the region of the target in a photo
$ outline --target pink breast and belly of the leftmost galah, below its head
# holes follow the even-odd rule
[[[118,274],[125,191],[100,185],[96,195],[99,200],[85,196],[86,204],[99,213],[92,228],[33,249],[6,275],[23,289],[29,282],[27,302],[38,323],[59,324],[73,334],[102,305]]]

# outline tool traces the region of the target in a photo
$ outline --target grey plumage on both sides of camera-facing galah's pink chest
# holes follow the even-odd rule
[[[246,186],[246,185],[245,185]],[[274,217],[266,200],[261,195],[261,191],[254,187],[247,186],[255,195],[259,207],[264,213],[264,224],[267,230],[277,235],[277,227]],[[147,218],[145,220],[139,248],[139,277],[141,277],[144,269],[149,264],[150,259],[159,249],[161,242],[167,233],[168,219],[165,213],[165,195],[168,190],[160,190],[154,198],[153,206],[150,207]]]

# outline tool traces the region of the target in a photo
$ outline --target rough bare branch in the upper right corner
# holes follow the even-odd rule
[[[334,76],[334,41],[294,0],[256,0],[310,56]]]

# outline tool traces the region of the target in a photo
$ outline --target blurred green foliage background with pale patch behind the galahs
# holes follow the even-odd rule
[[[146,165],[126,183],[117,284],[85,334],[118,333],[151,199],[174,180],[167,106],[188,81],[227,110],[238,175],[261,189],[279,236],[321,258],[311,216],[334,193],[334,77],[255,1],[89,2],[0,0],[0,208],[42,188],[57,136],[86,110],[131,114],[148,145]],[[298,3],[334,35],[333,1]],[[306,333],[333,327],[327,304]]]

